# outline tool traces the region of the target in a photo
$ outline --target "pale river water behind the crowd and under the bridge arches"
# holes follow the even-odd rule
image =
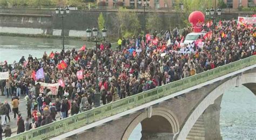
[[[93,43],[65,40],[65,48],[80,48],[84,44],[92,47]],[[0,62],[12,63],[22,56],[41,58],[43,52],[48,54],[62,49],[61,39],[42,39],[0,36]],[[224,93],[220,111],[220,129],[223,139],[256,139],[256,96],[244,86],[230,87]],[[129,139],[140,139],[140,124],[133,130]]]

